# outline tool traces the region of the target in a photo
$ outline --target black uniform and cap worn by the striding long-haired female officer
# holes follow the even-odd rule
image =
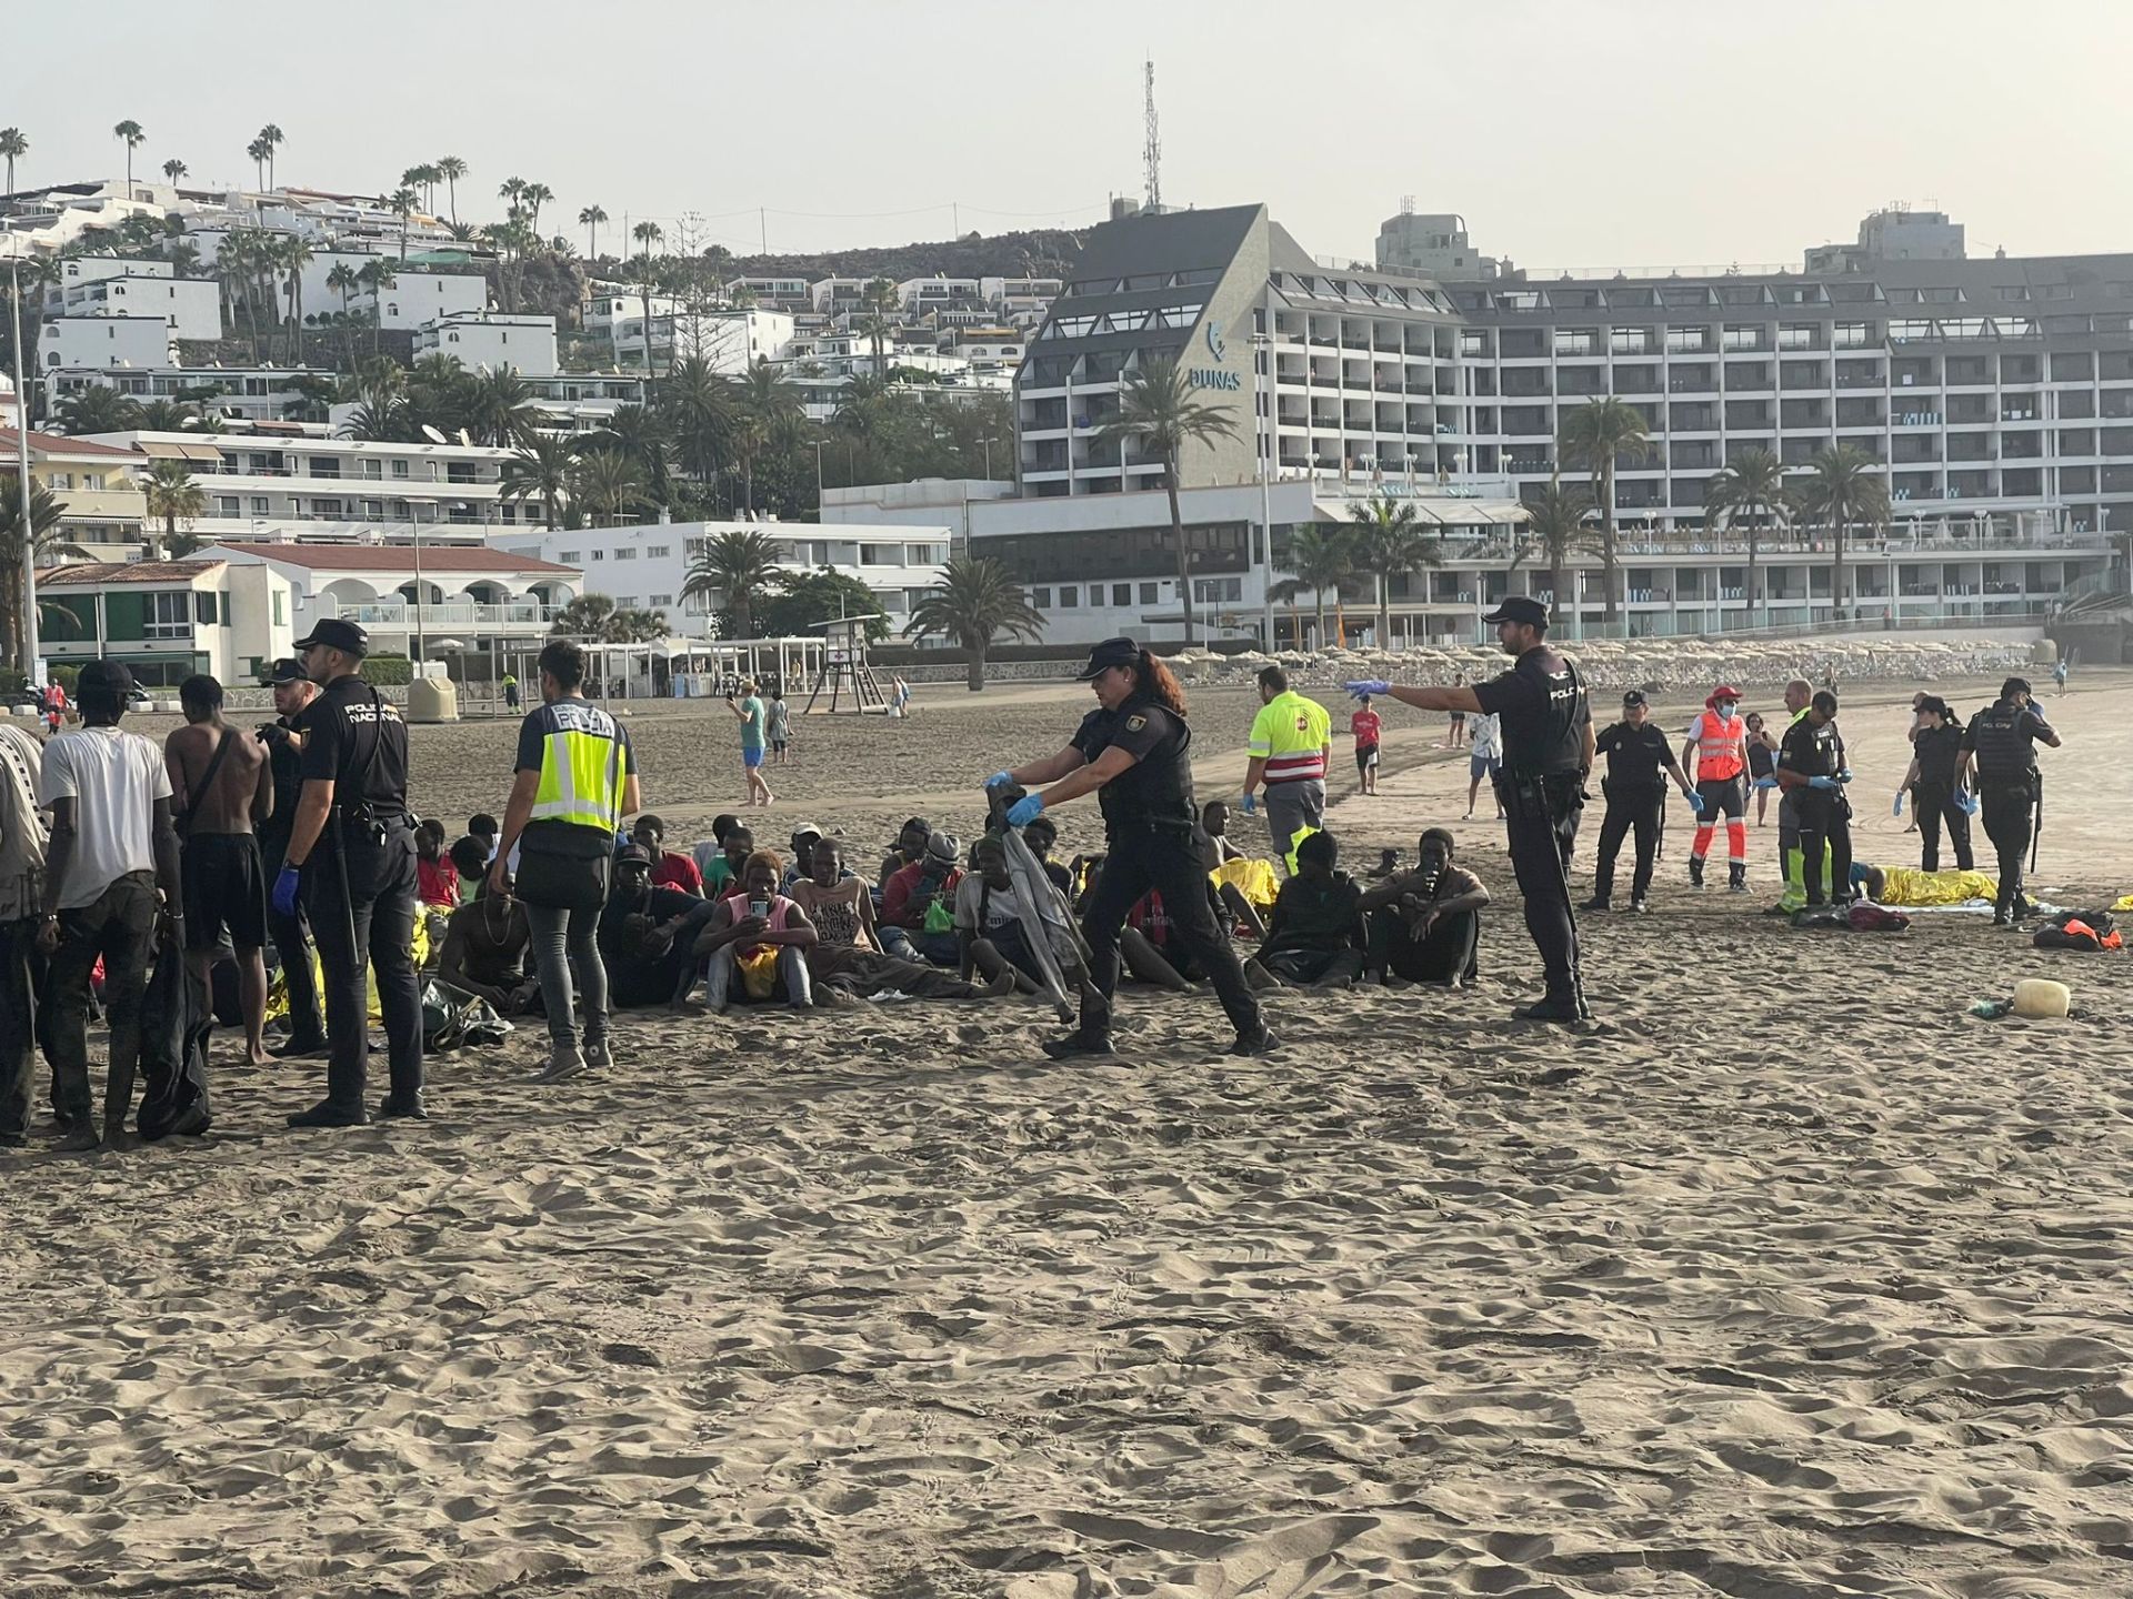
[[[1081,680],[1113,665],[1139,659],[1133,640],[1107,640],[1090,652]],[[1111,994],[1118,989],[1118,934],[1126,912],[1154,889],[1171,915],[1175,942],[1199,964],[1237,1028],[1241,1043],[1265,1038],[1258,998],[1244,979],[1237,951],[1216,925],[1207,904],[1207,834],[1192,808],[1192,729],[1184,718],[1145,695],[1126,699],[1118,710],[1101,706],[1081,718],[1073,746],[1084,761],[1094,761],[1107,748],[1135,755],[1135,763],[1096,791],[1103,808],[1105,861],[1081,915],[1081,936],[1088,942],[1092,994],[1081,996],[1084,1047],[1109,1045]]]

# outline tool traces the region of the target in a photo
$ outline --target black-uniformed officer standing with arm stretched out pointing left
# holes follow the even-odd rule
[[[1506,595],[1485,623],[1517,665],[1499,678],[1455,689],[1408,689],[1350,682],[1361,697],[1391,695],[1416,710],[1491,714],[1502,723],[1504,770],[1495,778],[1510,836],[1510,866],[1525,898],[1525,930],[1540,949],[1549,991],[1519,1011],[1525,1021],[1591,1017],[1578,981],[1578,923],[1570,910],[1570,851],[1585,806],[1585,774],[1593,765],[1593,718],[1585,684],[1570,661],[1549,648],[1549,608],[1527,595]]]

